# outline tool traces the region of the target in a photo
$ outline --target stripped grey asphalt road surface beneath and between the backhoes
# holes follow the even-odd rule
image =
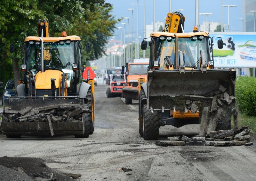
[[[95,131],[89,138],[0,135],[0,156],[43,158],[51,168],[82,174],[79,180],[256,180],[255,148],[160,147],[144,141],[138,101],[127,106],[120,97],[107,98],[106,90],[99,83],[95,88]],[[161,127],[160,139],[198,129]],[[132,171],[118,170],[122,167]]]

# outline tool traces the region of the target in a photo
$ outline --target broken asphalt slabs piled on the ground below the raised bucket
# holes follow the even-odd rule
[[[184,146],[184,145],[203,145],[203,146],[250,146],[250,130],[248,127],[236,127],[230,130],[212,131],[206,135],[196,135],[192,138],[187,136],[168,137],[168,141],[156,141],[160,146]]]

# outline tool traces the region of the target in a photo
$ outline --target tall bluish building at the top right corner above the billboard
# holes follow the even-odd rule
[[[242,0],[242,16],[244,18],[244,30],[254,31],[254,14],[250,11],[256,10],[256,0]]]

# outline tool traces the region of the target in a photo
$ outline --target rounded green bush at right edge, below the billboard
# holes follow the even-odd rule
[[[248,116],[256,116],[256,79],[242,76],[236,81],[236,103],[240,111]]]

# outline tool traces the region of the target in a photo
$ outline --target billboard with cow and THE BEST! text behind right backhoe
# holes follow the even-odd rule
[[[212,32],[210,36],[215,67],[256,67],[256,33]],[[219,38],[214,36],[222,38],[222,49],[218,49]]]

